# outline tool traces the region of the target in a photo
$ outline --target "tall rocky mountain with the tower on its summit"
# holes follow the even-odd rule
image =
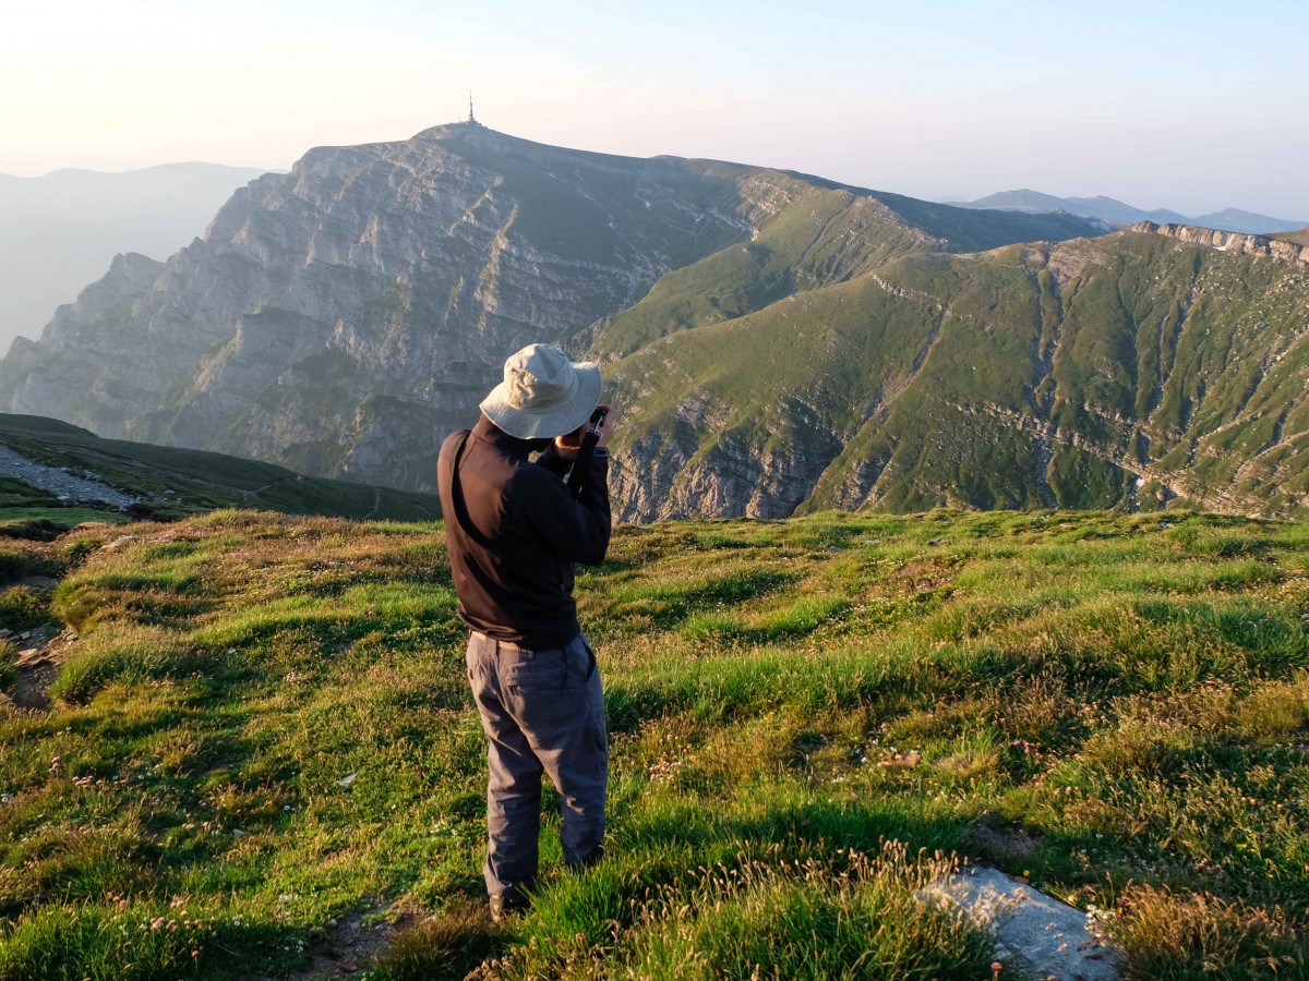
[[[0,362],[0,407],[429,488],[441,438],[475,417],[504,357],[529,341],[594,344],[609,360],[901,255],[1090,230],[1069,216],[436,127],[310,150],[291,174],[240,190],[161,268],[115,264]],[[732,468],[746,446],[726,434],[708,459]],[[792,476],[713,506],[745,494],[761,511],[793,508],[798,475],[817,464],[770,460]],[[699,500],[686,493],[687,506]]]

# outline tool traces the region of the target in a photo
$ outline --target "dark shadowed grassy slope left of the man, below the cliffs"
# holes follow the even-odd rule
[[[0,413],[0,443],[41,463],[90,471],[120,490],[158,498],[161,508],[177,514],[245,505],[288,514],[421,521],[439,517],[441,510],[435,494],[305,477],[271,463],[216,453],[101,439],[85,429],[35,416]],[[175,497],[162,497],[165,490]],[[0,519],[20,517],[8,513],[17,506],[17,501],[7,501]],[[58,508],[59,502],[45,506]]]

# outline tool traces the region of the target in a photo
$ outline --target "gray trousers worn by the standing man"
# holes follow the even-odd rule
[[[541,774],[562,798],[559,832],[571,869],[600,858],[609,738],[600,668],[586,638],[526,650],[469,637],[469,681],[487,734],[487,892],[521,897],[537,875]]]

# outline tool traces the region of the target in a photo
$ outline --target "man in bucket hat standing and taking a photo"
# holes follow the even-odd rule
[[[567,865],[585,867],[602,850],[605,697],[572,589],[573,562],[600,565],[609,548],[607,407],[594,454],[577,464],[576,497],[563,481],[600,394],[598,366],[530,344],[437,460],[458,612],[471,630],[469,681],[490,743],[483,876],[496,922],[526,904],[537,875],[542,772],[562,798]]]

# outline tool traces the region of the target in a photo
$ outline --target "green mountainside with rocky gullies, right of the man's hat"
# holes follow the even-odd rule
[[[620,361],[619,439],[668,514],[764,456],[808,508],[1299,513],[1306,310],[1300,267],[1151,235],[907,256]]]

